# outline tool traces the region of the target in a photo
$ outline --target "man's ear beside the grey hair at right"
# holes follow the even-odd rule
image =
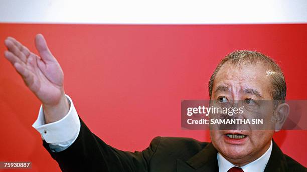
[[[286,103],[281,103],[275,111],[275,132],[281,130],[283,123],[287,119],[290,112],[290,107]]]

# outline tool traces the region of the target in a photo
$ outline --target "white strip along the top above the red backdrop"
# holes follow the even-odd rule
[[[307,23],[307,1],[0,0],[0,22],[76,24]]]

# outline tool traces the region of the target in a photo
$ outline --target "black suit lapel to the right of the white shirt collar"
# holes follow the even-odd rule
[[[269,171],[284,172],[284,171],[287,171],[287,169],[288,167],[287,167],[286,159],[282,151],[279,149],[279,147],[273,140],[271,156],[266,164],[264,172],[269,172]]]

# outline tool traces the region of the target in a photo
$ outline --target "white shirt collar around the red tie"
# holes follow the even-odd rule
[[[270,147],[266,150],[266,152],[260,156],[258,159],[244,165],[241,166],[241,168],[243,169],[244,172],[250,172],[250,171],[255,171],[255,169],[257,171],[263,172],[264,168],[271,156],[271,152],[272,152],[272,141],[271,141],[271,145]],[[218,164],[219,164],[219,171],[220,172],[227,172],[230,168],[232,168],[233,166],[236,166],[234,164],[232,164],[231,162],[229,162],[227,159],[225,159],[220,153],[217,154],[217,159],[218,159]]]

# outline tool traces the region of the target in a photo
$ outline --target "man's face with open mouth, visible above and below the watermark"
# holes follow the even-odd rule
[[[211,99],[270,100],[269,77],[261,63],[243,64],[238,68],[226,62],[216,75]],[[214,147],[227,160],[239,166],[260,157],[270,146],[273,133],[274,130],[210,130]],[[232,139],[229,134],[242,134],[245,137]]]

